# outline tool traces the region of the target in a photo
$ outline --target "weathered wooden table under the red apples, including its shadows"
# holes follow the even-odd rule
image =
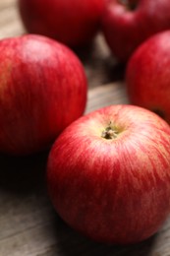
[[[1,0],[0,38],[24,32],[16,0]],[[102,34],[78,54],[89,85],[85,112],[128,103],[123,69]],[[64,224],[46,193],[47,155],[0,156],[0,256],[170,256],[170,219],[153,237],[125,247],[93,242]]]

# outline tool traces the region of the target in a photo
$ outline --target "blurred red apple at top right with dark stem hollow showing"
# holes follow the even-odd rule
[[[127,62],[150,35],[170,29],[169,0],[107,0],[102,31],[112,53]]]

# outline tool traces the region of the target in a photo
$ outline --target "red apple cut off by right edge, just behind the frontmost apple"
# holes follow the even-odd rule
[[[170,31],[145,40],[127,65],[130,101],[155,111],[170,123]]]

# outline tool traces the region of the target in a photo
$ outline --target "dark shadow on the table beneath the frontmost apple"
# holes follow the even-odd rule
[[[54,223],[57,245],[45,254],[48,256],[149,256],[156,237],[128,246],[106,245],[86,238],[58,216]]]

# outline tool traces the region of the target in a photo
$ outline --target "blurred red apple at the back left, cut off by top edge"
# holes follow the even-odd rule
[[[84,46],[99,30],[105,0],[19,0],[28,32],[53,37],[71,47]]]

